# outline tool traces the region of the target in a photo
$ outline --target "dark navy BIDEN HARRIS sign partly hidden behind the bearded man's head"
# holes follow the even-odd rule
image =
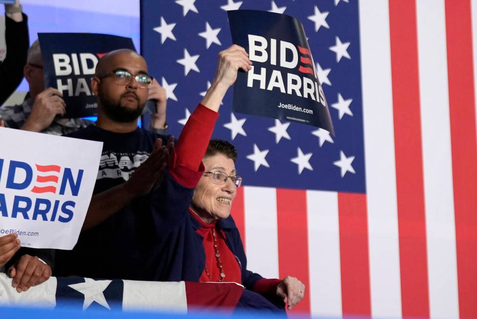
[[[66,103],[65,118],[97,115],[91,90],[98,60],[117,49],[135,51],[130,38],[94,33],[39,33],[45,87],[57,88]]]

